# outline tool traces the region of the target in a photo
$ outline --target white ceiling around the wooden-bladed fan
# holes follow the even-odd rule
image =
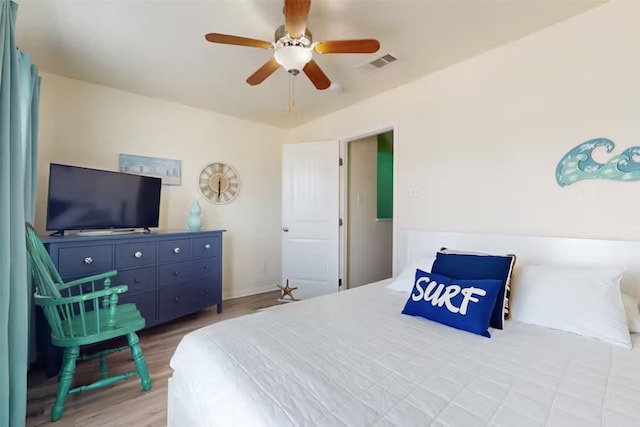
[[[23,0],[17,40],[42,70],[279,127],[301,123],[433,73],[601,4],[600,0],[313,0],[314,41],[377,38],[368,55],[320,55],[342,91],[280,69],[245,79],[272,51],[213,44],[209,32],[273,41],[282,0]],[[362,65],[387,53],[377,71]],[[45,83],[46,84],[46,83]]]

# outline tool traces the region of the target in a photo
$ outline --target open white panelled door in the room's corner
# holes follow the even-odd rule
[[[338,291],[338,141],[282,148],[282,283],[297,299]]]

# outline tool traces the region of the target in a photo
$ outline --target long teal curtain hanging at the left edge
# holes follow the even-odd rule
[[[0,426],[23,426],[31,284],[24,222],[33,222],[40,77],[15,40],[18,5],[0,0]]]

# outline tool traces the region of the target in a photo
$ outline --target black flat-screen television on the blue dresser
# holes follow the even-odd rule
[[[51,163],[47,230],[157,227],[161,181]]]

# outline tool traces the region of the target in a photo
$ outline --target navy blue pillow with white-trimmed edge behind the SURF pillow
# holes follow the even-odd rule
[[[447,250],[447,249],[443,249]],[[503,329],[504,319],[509,317],[509,297],[511,272],[515,264],[515,255],[485,255],[438,252],[431,272],[452,279],[495,279],[502,282],[496,297],[496,305],[491,313],[489,324],[492,328]]]

